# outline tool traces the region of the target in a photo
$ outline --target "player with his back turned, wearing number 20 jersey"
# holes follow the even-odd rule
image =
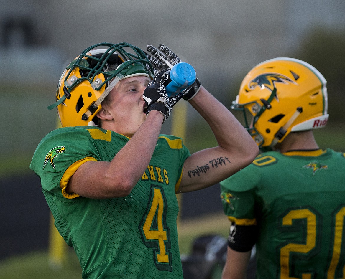
[[[245,278],[254,245],[257,278],[342,278],[344,153],[320,149],[313,135],[328,120],[325,78],[298,59],[267,60],[232,108],[262,152],[221,182],[231,222],[222,278]]]

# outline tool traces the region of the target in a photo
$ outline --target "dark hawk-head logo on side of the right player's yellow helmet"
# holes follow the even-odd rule
[[[284,84],[293,83],[293,84],[297,84],[292,79],[290,79],[290,78],[288,78],[288,77],[286,77],[286,76],[284,76],[282,74],[279,74],[279,73],[265,73],[265,74],[260,74],[260,76],[257,76],[256,78],[252,79],[249,82],[248,87],[250,89],[254,89],[256,86],[259,86],[261,89],[267,88],[268,90],[270,90],[272,92],[273,89],[276,87],[275,83],[284,83]],[[277,92],[275,93],[274,97],[278,101]]]

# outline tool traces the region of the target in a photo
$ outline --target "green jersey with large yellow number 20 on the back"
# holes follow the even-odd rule
[[[344,153],[264,152],[220,185],[229,220],[257,226],[257,278],[344,278]]]

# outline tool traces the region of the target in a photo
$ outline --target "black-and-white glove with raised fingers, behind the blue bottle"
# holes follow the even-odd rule
[[[158,49],[149,44],[146,50],[148,51],[148,53],[146,53],[147,58],[154,68],[155,74],[160,71],[171,69],[175,64],[182,62],[181,59],[164,44],[160,44]],[[183,91],[183,98],[187,101],[193,99],[198,93],[200,86],[201,82],[196,78],[195,82]]]

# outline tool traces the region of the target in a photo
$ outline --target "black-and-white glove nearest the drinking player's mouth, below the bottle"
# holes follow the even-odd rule
[[[163,116],[164,121],[169,117],[172,107],[184,96],[181,92],[169,98],[163,83],[162,76],[169,70],[162,71],[154,77],[144,90],[143,98],[146,103],[146,115],[152,110],[158,110]]]

